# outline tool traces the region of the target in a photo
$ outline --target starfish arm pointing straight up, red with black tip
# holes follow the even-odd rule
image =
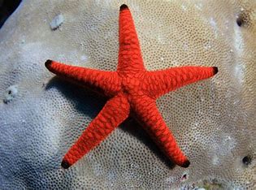
[[[140,43],[128,6],[119,11],[119,60],[117,71],[121,74],[145,71]]]

